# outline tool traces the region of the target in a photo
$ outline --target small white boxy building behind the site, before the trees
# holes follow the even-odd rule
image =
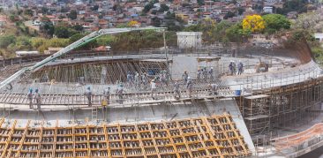
[[[178,32],[177,45],[180,49],[197,48],[202,45],[201,32]]]

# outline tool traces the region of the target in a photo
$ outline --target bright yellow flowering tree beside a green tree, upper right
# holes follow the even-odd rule
[[[244,18],[242,26],[246,32],[250,30],[252,33],[259,33],[265,29],[265,20],[259,15],[248,15]]]

